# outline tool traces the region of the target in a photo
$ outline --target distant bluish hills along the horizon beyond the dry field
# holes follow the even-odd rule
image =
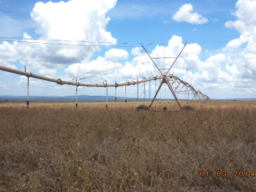
[[[2,95],[0,96],[0,102],[26,102],[27,96],[14,96],[14,95]],[[29,96],[30,102],[76,102],[76,96]],[[152,100],[152,98],[151,98]],[[157,99],[158,100],[158,99]],[[211,101],[255,101],[256,98],[230,98],[230,99],[211,99]],[[108,96],[108,101],[115,101],[115,96]],[[125,97],[117,97],[118,102],[125,102]],[[128,97],[127,101],[137,101],[137,98]],[[139,98],[139,101],[144,101],[144,98]],[[146,101],[149,101],[146,98]],[[79,95],[78,102],[106,102],[106,96],[90,96]]]

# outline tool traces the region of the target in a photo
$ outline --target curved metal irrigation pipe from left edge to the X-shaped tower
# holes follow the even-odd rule
[[[121,84],[86,84],[86,83],[77,83],[77,82],[69,82],[69,81],[63,81],[61,79],[53,79],[53,78],[49,78],[49,77],[45,77],[45,76],[41,76],[41,75],[36,75],[36,74],[32,74],[32,73],[28,73],[28,72],[24,72],[24,71],[20,71],[20,70],[16,70],[16,69],[12,69],[12,68],[8,68],[8,67],[4,67],[4,66],[0,66],[0,70],[2,71],[6,71],[6,72],[10,72],[10,73],[15,73],[15,74],[19,74],[19,75],[24,75],[27,77],[32,77],[32,78],[36,78],[36,79],[41,79],[41,80],[46,80],[46,81],[50,81],[50,82],[55,82],[59,85],[74,85],[74,86],[86,86],[86,87],[119,87],[119,86],[126,86],[126,85],[135,85],[135,84],[140,84],[143,82],[148,82],[148,81],[152,81],[152,80],[157,80],[157,79],[164,79],[164,78],[172,78],[175,77],[173,75],[166,75],[166,76],[161,76],[161,77],[153,77],[151,79],[146,79],[146,80],[142,80],[142,81],[132,81],[132,82],[127,82],[127,83],[121,83]]]

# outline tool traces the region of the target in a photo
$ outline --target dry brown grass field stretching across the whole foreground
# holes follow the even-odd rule
[[[0,191],[256,191],[256,102],[140,104],[0,104]]]

